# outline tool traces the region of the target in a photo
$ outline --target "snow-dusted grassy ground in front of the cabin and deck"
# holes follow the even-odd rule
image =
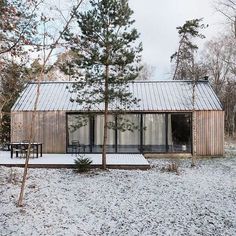
[[[236,235],[236,158],[180,160],[180,174],[152,168],[29,169],[25,206],[16,207],[21,168],[0,167],[0,235]]]

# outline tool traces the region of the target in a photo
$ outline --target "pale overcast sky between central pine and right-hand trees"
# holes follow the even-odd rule
[[[203,42],[223,29],[223,19],[214,10],[213,0],[130,0],[130,7],[141,33],[143,61],[156,68],[153,79],[170,78],[170,56],[178,46],[177,26],[204,18],[203,23],[209,27],[203,31]]]

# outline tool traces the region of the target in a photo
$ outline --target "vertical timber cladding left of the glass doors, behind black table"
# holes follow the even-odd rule
[[[33,112],[11,113],[11,141],[29,139]],[[66,115],[63,111],[37,112],[33,124],[35,142],[43,143],[44,153],[66,153]]]

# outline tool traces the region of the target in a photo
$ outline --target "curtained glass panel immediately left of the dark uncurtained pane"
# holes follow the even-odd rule
[[[165,114],[143,115],[143,151],[166,151],[166,119]]]

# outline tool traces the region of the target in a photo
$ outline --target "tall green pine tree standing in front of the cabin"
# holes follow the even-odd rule
[[[142,51],[141,44],[136,42],[139,33],[131,27],[134,23],[132,14],[128,0],[90,0],[88,11],[76,13],[81,33],[76,35],[67,31],[65,34],[65,39],[73,45],[71,49],[78,55],[70,68],[84,71],[82,77],[74,74],[77,77],[74,90],[79,91],[75,101],[88,111],[94,106],[103,106],[104,169],[111,107],[113,111],[128,110],[138,102],[127,86],[138,76]]]

